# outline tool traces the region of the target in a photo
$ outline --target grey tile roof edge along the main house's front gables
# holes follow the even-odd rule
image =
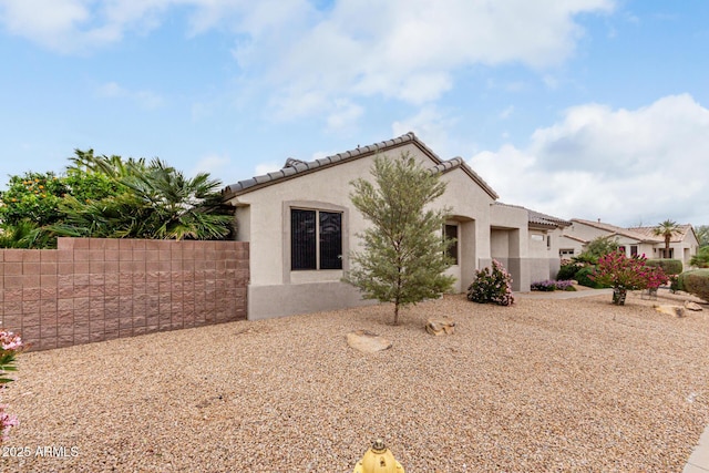
[[[261,187],[266,187],[278,182],[295,178],[302,174],[314,173],[319,169],[323,169],[326,167],[335,166],[341,163],[350,162],[358,160],[364,156],[371,156],[377,153],[392,150],[399,146],[403,146],[408,143],[413,143],[421,151],[423,151],[434,163],[434,166],[430,168],[432,173],[448,173],[454,168],[462,168],[465,174],[470,178],[472,178],[479,186],[481,186],[487,195],[490,195],[493,199],[496,199],[497,194],[483,181],[480,175],[477,175],[462,157],[454,157],[449,161],[441,160],[431,148],[429,148],[421,140],[419,140],[412,132],[409,132],[404,135],[398,136],[392,140],[387,140],[383,142],[374,143],[367,146],[357,146],[354,150],[349,150],[343,153],[338,153],[331,156],[322,157],[320,160],[315,160],[310,162],[305,162],[300,160],[295,160],[289,157],[286,160],[286,164],[282,168],[264,174],[260,176],[255,176],[249,179],[239,181],[236,184],[229,184],[222,191],[222,195],[225,199],[235,197],[240,194],[245,194],[247,192],[256,191]]]

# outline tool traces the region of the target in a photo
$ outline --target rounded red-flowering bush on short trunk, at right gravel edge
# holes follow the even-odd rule
[[[619,251],[608,253],[598,258],[598,265],[588,277],[613,287],[613,302],[623,306],[628,290],[657,289],[668,281],[660,267],[647,266],[646,261],[645,255],[628,258]]]

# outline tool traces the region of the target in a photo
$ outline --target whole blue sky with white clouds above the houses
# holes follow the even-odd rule
[[[232,184],[414,132],[561,218],[709,224],[709,1],[0,0],[0,189],[74,150]]]

